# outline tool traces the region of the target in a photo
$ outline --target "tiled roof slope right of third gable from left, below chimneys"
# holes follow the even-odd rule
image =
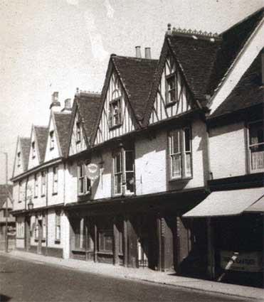
[[[54,120],[58,133],[58,143],[60,144],[60,150],[62,156],[65,157],[68,151],[68,139],[70,132],[70,117],[68,112],[54,112]]]

